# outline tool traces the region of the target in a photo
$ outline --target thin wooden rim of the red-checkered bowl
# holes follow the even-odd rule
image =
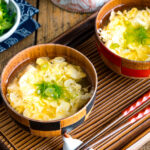
[[[140,63],[140,64],[143,64],[143,63],[150,63],[150,60],[148,60],[148,61],[131,60],[131,59],[124,58],[124,57],[122,57],[122,56],[120,56],[120,55],[117,55],[117,54],[113,53],[108,47],[106,47],[105,44],[104,44],[104,42],[100,39],[99,34],[98,34],[98,32],[97,32],[97,30],[98,30],[98,29],[97,29],[97,24],[100,23],[100,21],[102,21],[102,20],[100,20],[100,21],[98,22],[98,17],[99,17],[99,15],[102,13],[102,11],[105,9],[105,7],[108,6],[108,5],[110,5],[110,3],[112,3],[112,1],[115,1],[115,0],[110,0],[110,1],[107,2],[105,5],[103,5],[103,7],[98,11],[98,14],[97,14],[97,16],[96,16],[96,19],[95,19],[95,33],[96,33],[96,37],[97,37],[98,41],[99,41],[99,42],[105,47],[105,49],[107,49],[111,54],[115,55],[116,57],[119,57],[120,59],[123,59],[123,60],[125,60],[125,61],[129,61],[129,62]],[[116,5],[115,7],[113,7],[109,12],[111,12],[114,8],[116,8],[116,7],[118,7],[118,6],[124,6],[124,5],[126,5],[126,4],[118,4],[118,5]],[[107,13],[109,13],[109,12],[107,12]],[[105,13],[105,15],[106,15],[106,13]],[[104,16],[103,16],[103,17],[104,17]]]

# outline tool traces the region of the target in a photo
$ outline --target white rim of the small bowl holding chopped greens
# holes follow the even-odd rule
[[[11,3],[14,5],[14,7],[16,8],[16,21],[14,23],[14,25],[3,35],[0,36],[0,42],[3,42],[4,40],[6,40],[7,38],[9,38],[18,28],[20,20],[21,20],[21,10],[18,6],[18,4],[14,1],[14,0],[10,0]]]

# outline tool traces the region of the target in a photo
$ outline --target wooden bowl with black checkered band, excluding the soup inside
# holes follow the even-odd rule
[[[66,58],[66,61],[75,65],[81,66],[81,68],[87,73],[92,88],[94,90],[92,97],[87,104],[80,109],[74,115],[54,121],[39,121],[27,118],[17,113],[9,104],[6,94],[7,85],[17,72],[24,68],[24,65],[29,64],[31,61],[35,61],[38,57],[54,58],[56,56],[62,56]],[[3,97],[6,109],[11,117],[13,117],[18,123],[20,123],[24,129],[30,131],[30,133],[42,136],[51,137],[64,134],[79,126],[89,115],[97,89],[97,74],[93,64],[82,53],[76,51],[73,48],[56,45],[56,44],[43,44],[29,47],[17,55],[15,55],[6,65],[1,76],[1,93]]]

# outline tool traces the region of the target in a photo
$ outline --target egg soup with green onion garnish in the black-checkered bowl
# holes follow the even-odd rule
[[[10,105],[18,113],[36,120],[68,117],[83,107],[91,95],[86,73],[63,57],[38,58],[7,87]]]

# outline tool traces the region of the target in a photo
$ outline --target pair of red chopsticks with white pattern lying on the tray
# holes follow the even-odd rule
[[[127,109],[125,109],[115,121],[113,121],[110,125],[106,126],[102,131],[98,132],[94,137],[92,137],[85,143],[81,144],[76,150],[91,148],[98,143],[102,143],[105,139],[110,138],[112,135],[118,133],[120,130],[123,130],[123,129],[131,126],[134,122],[136,122],[138,120],[137,118],[135,118],[135,116],[134,116],[134,118],[132,118],[131,116],[135,115],[139,111],[142,111],[142,112],[146,111],[143,116],[141,116],[141,113],[137,114],[139,119],[141,119],[142,117],[147,115],[147,112],[148,112],[148,114],[150,113],[149,112],[149,109],[150,109],[149,102],[150,102],[150,91],[148,91],[143,96],[141,96],[135,103],[133,103],[131,106],[129,106]],[[127,121],[127,119],[130,117],[132,118],[132,120]],[[118,126],[125,120],[126,120],[126,122],[124,124],[122,124],[119,129],[114,130],[113,132],[111,132],[110,134],[105,136],[106,132],[114,129],[116,126]],[[86,146],[90,142],[94,141],[99,136],[101,137],[101,139],[99,139],[97,142],[95,142],[94,144],[91,144],[89,147],[86,148]]]

